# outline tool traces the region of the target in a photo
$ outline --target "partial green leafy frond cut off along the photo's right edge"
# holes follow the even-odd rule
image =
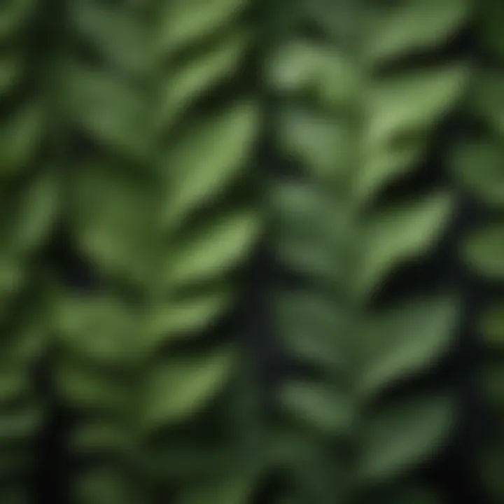
[[[491,502],[504,498],[503,384],[504,361],[504,225],[503,210],[503,99],[501,68],[504,61],[503,7],[496,1],[479,6],[476,24],[479,30],[481,61],[475,65],[472,92],[468,95],[467,116],[475,123],[475,132],[454,157],[454,176],[463,190],[485,210],[484,222],[468,230],[461,243],[461,257],[471,274],[493,284],[482,301],[475,321],[484,351],[479,367],[482,395],[491,407],[491,436],[482,447],[479,472]]]

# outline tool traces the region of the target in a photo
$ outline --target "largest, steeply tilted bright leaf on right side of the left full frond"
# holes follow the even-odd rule
[[[228,190],[255,141],[258,109],[238,102],[219,116],[194,127],[163,160],[170,196],[162,214],[166,225],[179,224],[187,214]]]

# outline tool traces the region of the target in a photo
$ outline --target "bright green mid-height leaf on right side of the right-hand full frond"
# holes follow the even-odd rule
[[[427,253],[447,225],[451,208],[448,193],[433,193],[381,211],[367,229],[360,292],[370,293],[391,269]]]

